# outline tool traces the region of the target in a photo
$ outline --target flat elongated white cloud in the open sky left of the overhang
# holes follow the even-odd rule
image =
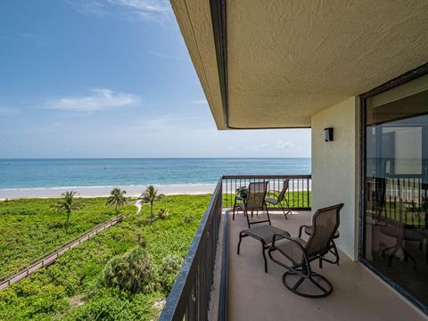
[[[55,99],[47,103],[45,108],[60,111],[103,111],[140,103],[140,98],[136,95],[114,93],[108,88],[96,88],[90,91],[92,95]]]

